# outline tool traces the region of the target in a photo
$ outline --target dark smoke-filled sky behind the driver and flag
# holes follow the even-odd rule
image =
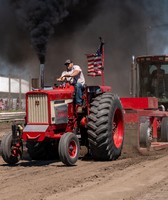
[[[101,84],[86,76],[85,54],[95,52],[102,36],[105,84],[124,96],[132,55],[168,51],[167,0],[0,0],[0,5],[1,73],[26,70],[35,77],[38,60],[46,61],[46,83],[52,85],[70,58],[82,67],[88,85]]]

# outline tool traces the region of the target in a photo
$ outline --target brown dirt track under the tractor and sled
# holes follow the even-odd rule
[[[117,161],[80,159],[74,167],[59,161],[29,161],[26,155],[10,167],[0,157],[1,200],[166,200],[167,188],[166,150],[141,156],[124,149]]]

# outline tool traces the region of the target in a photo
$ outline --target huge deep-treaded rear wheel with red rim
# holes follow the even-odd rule
[[[91,103],[88,140],[94,160],[116,160],[124,139],[122,105],[117,95],[103,93]]]

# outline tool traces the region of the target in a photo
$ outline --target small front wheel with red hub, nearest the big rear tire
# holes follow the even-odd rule
[[[61,136],[58,146],[60,160],[67,166],[74,165],[79,158],[80,144],[74,133],[67,132]]]

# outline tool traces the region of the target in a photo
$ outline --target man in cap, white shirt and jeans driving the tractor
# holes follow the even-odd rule
[[[82,89],[85,84],[85,78],[82,69],[78,65],[74,65],[73,62],[68,59],[65,61],[66,71],[62,72],[61,77],[57,81],[65,81],[65,79],[70,82],[70,84],[75,86],[75,103],[78,110],[82,106]]]

